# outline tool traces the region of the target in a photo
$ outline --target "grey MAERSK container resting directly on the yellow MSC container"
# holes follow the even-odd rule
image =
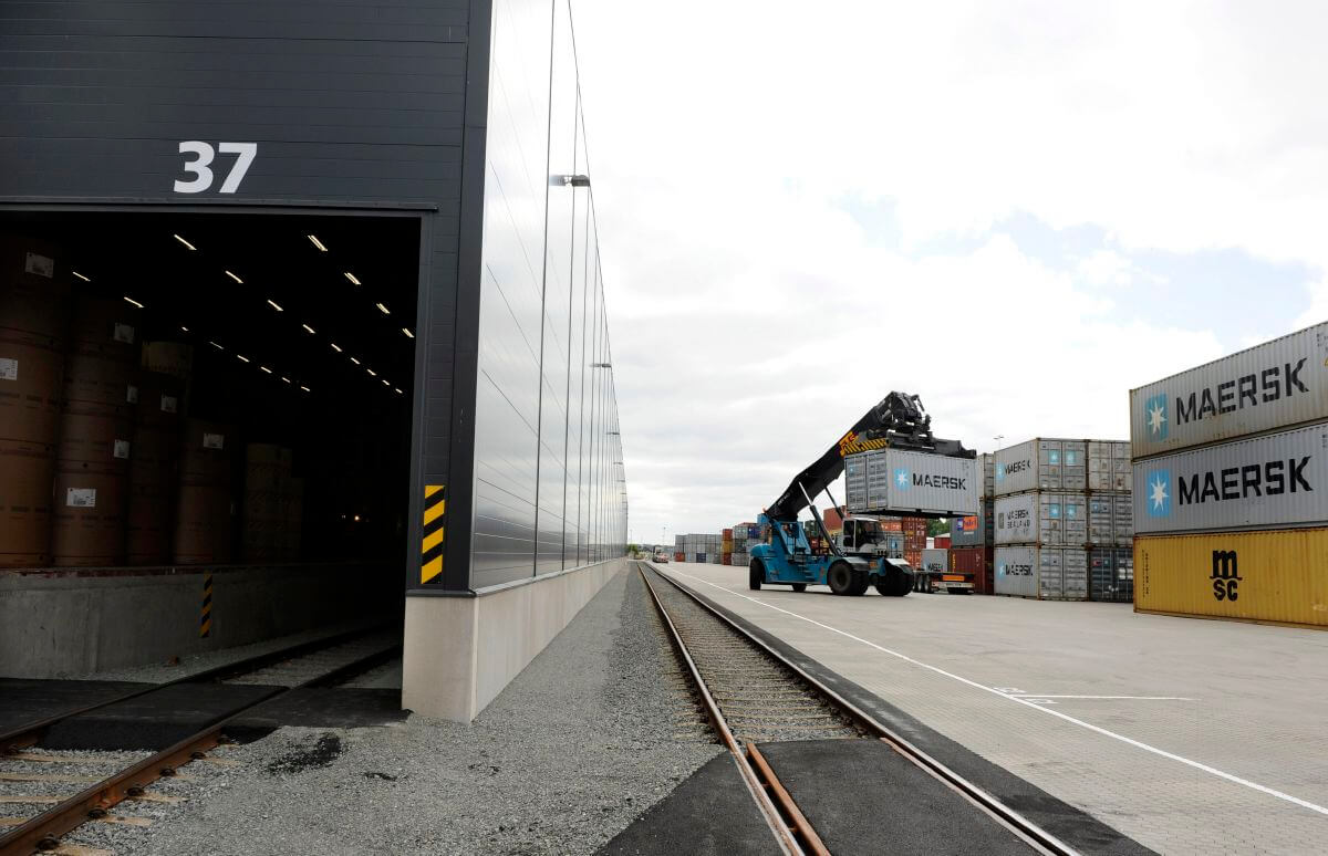
[[[1328,422],[1134,463],[1134,532],[1328,523]]]

